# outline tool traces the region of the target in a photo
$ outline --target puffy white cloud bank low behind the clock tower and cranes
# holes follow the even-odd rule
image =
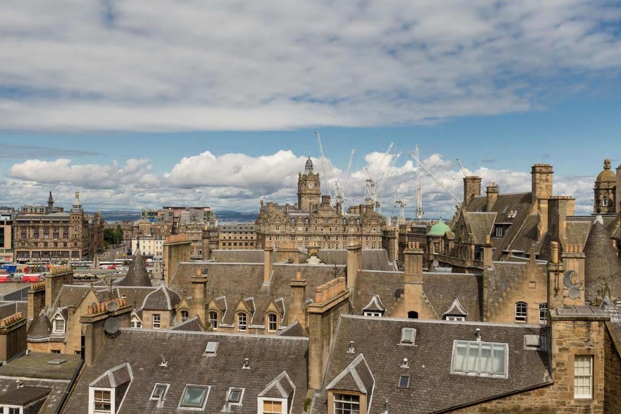
[[[351,173],[345,191],[346,205],[363,203],[365,180],[377,182],[386,175],[383,194],[383,214],[396,215],[396,197],[406,200],[406,214],[415,210],[416,168],[411,159],[402,154],[394,168],[386,168],[392,155],[371,152],[363,155],[363,165]],[[426,168],[445,186],[441,188],[434,178],[420,170],[422,199],[425,216],[448,218],[455,212],[455,200],[463,196],[463,174],[458,166],[435,153],[421,157]],[[331,179],[325,180],[319,160],[313,159],[315,171],[320,172],[322,193],[327,185],[334,193]],[[205,151],[184,157],[168,172],[154,174],[147,159],[130,159],[124,165],[76,164],[69,159],[53,161],[27,160],[11,168],[11,178],[0,182],[2,203],[19,206],[23,203],[42,203],[47,191],[52,190],[58,205],[70,205],[73,191],[81,191],[81,200],[87,209],[137,209],[162,205],[209,205],[216,209],[258,210],[259,201],[295,203],[298,173],[304,170],[306,157],[291,150],[252,157],[247,154],[214,155]],[[383,164],[383,167],[380,165]],[[356,163],[356,165],[358,165]],[[342,170],[334,165],[335,177]],[[594,170],[594,175],[597,173]],[[530,171],[512,171],[479,167],[474,175],[482,178],[482,190],[488,182],[495,182],[501,193],[530,191]],[[576,198],[576,213],[589,214],[592,210],[594,177],[573,177],[556,174],[555,194]],[[449,194],[450,193],[450,194]]]

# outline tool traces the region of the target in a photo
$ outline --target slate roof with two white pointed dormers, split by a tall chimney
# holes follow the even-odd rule
[[[403,277],[403,272],[360,272],[351,300],[353,312],[362,315],[373,295],[378,295],[386,308],[385,316],[392,316],[397,298],[403,294]],[[466,320],[482,318],[483,275],[423,272],[423,292],[438,318],[442,318],[455,297],[468,311]]]

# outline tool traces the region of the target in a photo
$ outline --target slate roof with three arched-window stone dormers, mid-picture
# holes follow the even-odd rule
[[[224,296],[224,300],[232,310],[242,297],[253,298],[253,303],[247,305],[253,307],[260,316],[252,315],[253,324],[263,324],[263,311],[267,308],[272,297],[274,300],[283,298],[285,314],[282,325],[289,323],[287,311],[291,303],[291,287],[289,283],[296,278],[296,272],[301,272],[302,278],[306,279],[306,298],[314,297],[314,288],[337,277],[345,277],[345,266],[337,265],[309,265],[309,264],[273,264],[273,274],[270,284],[263,285],[263,264],[242,263],[219,263],[219,262],[181,262],[171,277],[170,288],[176,292],[185,289],[192,292],[191,278],[196,275],[196,270],[207,269],[207,292],[213,292],[215,298]],[[224,313],[224,320],[220,323],[234,322],[235,315],[232,311]]]

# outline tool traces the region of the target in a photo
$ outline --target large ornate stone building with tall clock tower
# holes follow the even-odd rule
[[[372,200],[365,205],[332,206],[330,196],[322,196],[319,173],[313,172],[312,161],[306,161],[304,173],[299,173],[297,204],[284,206],[277,203],[263,204],[256,218],[256,246],[263,248],[267,242],[278,247],[292,243],[297,249],[309,246],[320,249],[345,249],[350,241],[360,242],[365,249],[382,248],[382,228],[386,221],[374,211]]]

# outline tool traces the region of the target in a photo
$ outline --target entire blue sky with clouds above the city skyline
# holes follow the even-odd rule
[[[0,56],[0,205],[256,211],[296,200],[309,154],[333,192],[356,148],[347,203],[386,175],[383,213],[398,191],[411,216],[418,144],[457,198],[457,158],[501,193],[545,162],[588,214],[621,162],[615,1],[7,0]],[[425,214],[451,216],[421,180]]]

